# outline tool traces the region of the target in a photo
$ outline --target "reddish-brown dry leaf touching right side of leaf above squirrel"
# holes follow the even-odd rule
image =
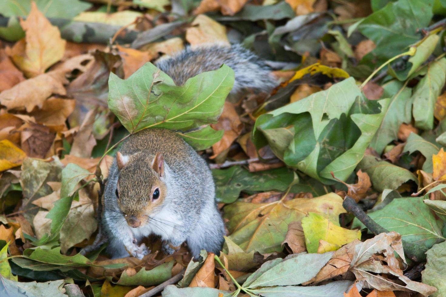
[[[240,121],[239,114],[235,111],[234,104],[226,101],[219,121],[211,126],[215,130],[224,130],[223,138],[212,146],[214,155],[210,158],[214,159],[220,153],[227,150],[232,142],[239,137],[243,129],[243,124]]]

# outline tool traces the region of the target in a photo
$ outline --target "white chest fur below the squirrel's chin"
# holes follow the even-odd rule
[[[137,239],[156,234],[161,239],[168,240],[182,225],[179,218],[170,210],[170,207],[163,207],[160,212],[150,216],[150,220],[140,228],[132,228],[132,233]]]

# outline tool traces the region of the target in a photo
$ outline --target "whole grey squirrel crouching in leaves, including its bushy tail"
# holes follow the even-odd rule
[[[241,45],[186,47],[155,65],[177,85],[222,64],[235,72],[230,94],[245,89],[269,92],[277,84],[271,69]],[[215,185],[205,160],[178,133],[146,129],[132,134],[110,167],[103,198],[102,226],[112,258],[149,254],[143,237],[155,234],[172,254],[184,242],[191,255],[218,253],[225,228],[215,200]]]

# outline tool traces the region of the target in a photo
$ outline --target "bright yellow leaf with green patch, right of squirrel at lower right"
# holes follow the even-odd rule
[[[322,243],[321,252],[324,251],[324,246],[328,250],[335,250],[335,245],[340,248],[344,244],[348,244],[355,239],[361,239],[360,230],[349,230],[336,226],[330,220],[326,219],[320,214],[309,212],[308,216],[302,219],[302,227],[304,229],[305,243],[308,252],[318,252],[319,241],[326,241],[327,244]]]

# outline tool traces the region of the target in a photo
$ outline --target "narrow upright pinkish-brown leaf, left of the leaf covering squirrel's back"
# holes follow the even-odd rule
[[[95,115],[96,110],[90,110],[85,116],[82,125],[73,138],[70,155],[80,158],[90,158],[91,151],[93,151],[93,147],[96,145],[96,139],[93,136]]]

